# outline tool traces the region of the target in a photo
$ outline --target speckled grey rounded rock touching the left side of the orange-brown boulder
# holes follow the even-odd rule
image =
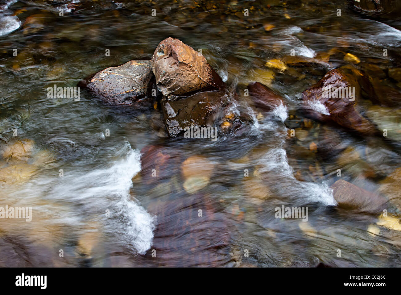
[[[152,77],[151,61],[128,61],[100,71],[87,87],[108,104],[132,105],[152,97]]]

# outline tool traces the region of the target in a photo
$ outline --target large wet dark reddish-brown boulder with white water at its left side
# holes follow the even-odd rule
[[[349,90],[349,87],[354,87],[351,88],[354,91],[346,95],[342,90]],[[332,91],[331,94],[327,92],[328,89],[338,88],[341,91]],[[338,69],[329,71],[318,83],[302,93],[306,117],[336,123],[363,134],[373,134],[377,132],[375,125],[363,117],[356,108],[359,99],[360,88],[356,80]]]

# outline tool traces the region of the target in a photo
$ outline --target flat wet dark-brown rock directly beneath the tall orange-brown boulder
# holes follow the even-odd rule
[[[199,92],[176,101],[162,101],[169,136],[177,136],[184,128],[212,127],[218,110],[228,103],[220,91]]]

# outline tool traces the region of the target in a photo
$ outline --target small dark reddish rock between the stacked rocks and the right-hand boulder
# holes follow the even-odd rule
[[[256,108],[263,111],[271,111],[283,104],[282,96],[267,88],[265,85],[255,82],[248,85],[249,96]]]

